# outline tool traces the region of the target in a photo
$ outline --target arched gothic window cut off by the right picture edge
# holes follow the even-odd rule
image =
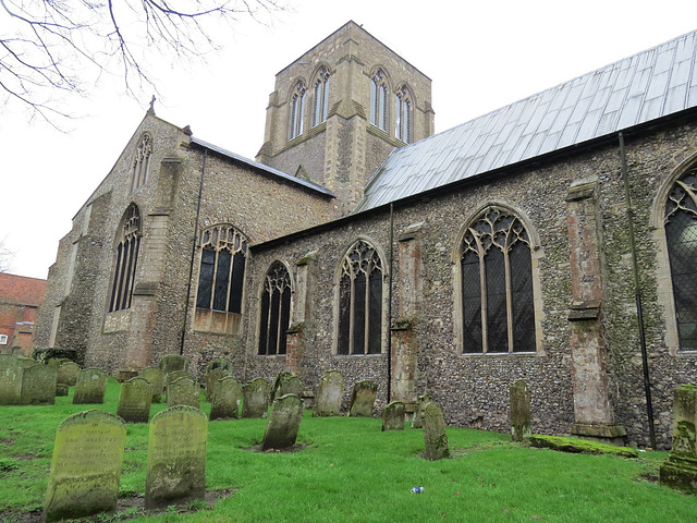
[[[680,348],[697,350],[697,166],[673,185],[665,203],[665,241]]]

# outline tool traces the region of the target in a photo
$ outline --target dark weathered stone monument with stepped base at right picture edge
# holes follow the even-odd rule
[[[659,482],[675,490],[697,494],[697,387],[681,385],[673,400],[673,445],[660,467]]]

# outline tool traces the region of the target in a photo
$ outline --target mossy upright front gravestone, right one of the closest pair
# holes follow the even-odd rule
[[[187,405],[170,406],[152,416],[145,478],[146,509],[204,499],[207,427],[206,414]]]

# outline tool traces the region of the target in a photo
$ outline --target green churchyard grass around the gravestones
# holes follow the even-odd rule
[[[103,405],[115,412],[119,386]],[[86,410],[72,397],[53,406],[0,406],[0,521],[44,504],[56,428]],[[208,404],[201,403],[204,411]],[[91,405],[87,405],[91,406]],[[164,405],[154,405],[151,414]],[[208,425],[208,489],[233,489],[212,510],[140,515],[134,521],[213,522],[693,522],[697,499],[644,479],[667,452],[638,459],[567,454],[510,442],[504,434],[449,429],[453,458],[419,457],[423,433],[380,431],[379,419],[313,418],[293,453],[259,453],[265,419]],[[148,427],[129,425],[121,496],[145,491]],[[424,486],[421,495],[411,494]],[[201,508],[204,503],[193,503]],[[130,509],[130,513],[137,511]],[[103,515],[96,521],[110,521]]]

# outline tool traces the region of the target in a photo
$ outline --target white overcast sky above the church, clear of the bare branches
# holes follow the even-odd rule
[[[158,117],[248,158],[264,141],[274,75],[353,20],[432,80],[436,132],[697,28],[697,1],[288,0],[271,23],[240,22],[224,50],[189,69],[161,69]],[[1,29],[0,29],[1,31]],[[61,133],[0,113],[0,240],[11,273],[46,278],[59,240],[117,161],[150,94],[103,82],[66,108]]]

